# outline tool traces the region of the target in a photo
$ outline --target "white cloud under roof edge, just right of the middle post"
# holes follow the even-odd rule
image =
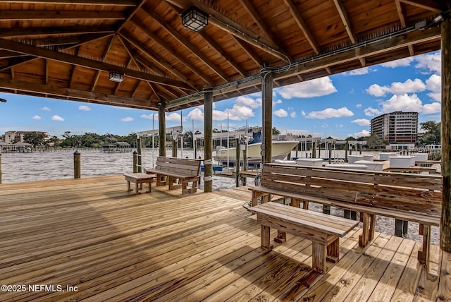
[[[292,97],[321,97],[337,92],[332,80],[329,77],[316,78],[306,82],[296,83],[281,87],[277,93],[284,99],[291,99]]]

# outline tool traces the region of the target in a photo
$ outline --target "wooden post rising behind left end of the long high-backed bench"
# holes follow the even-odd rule
[[[263,77],[263,89],[261,90],[263,100],[261,111],[263,115],[263,160],[262,163],[270,163],[272,157],[273,140],[273,74],[265,73]],[[264,149],[263,149],[264,148]]]

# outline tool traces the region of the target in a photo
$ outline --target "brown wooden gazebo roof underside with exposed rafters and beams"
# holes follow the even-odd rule
[[[200,32],[180,14],[209,15]],[[0,91],[174,111],[440,49],[450,1],[0,2]],[[109,72],[123,73],[123,82]]]

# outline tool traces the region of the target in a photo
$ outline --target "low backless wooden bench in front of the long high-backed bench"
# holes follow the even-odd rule
[[[286,233],[290,233],[311,241],[312,269],[319,273],[327,271],[326,260],[340,260],[340,237],[359,224],[354,220],[334,217],[309,210],[289,207],[280,203],[264,203],[249,208],[257,214],[261,224],[261,248],[271,250],[271,227],[278,230],[274,241],[282,243]]]

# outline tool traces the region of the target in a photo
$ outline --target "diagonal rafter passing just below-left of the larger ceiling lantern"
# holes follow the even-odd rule
[[[217,75],[219,75],[219,77],[221,77],[226,82],[228,82],[230,80],[228,78],[228,75],[226,73],[224,73],[221,70],[221,68],[216,66],[216,64],[214,64],[213,61],[211,61],[204,54],[202,54],[202,52],[200,52],[199,49],[197,49],[197,47],[195,47],[194,44],[192,44],[190,42],[190,40],[188,40],[187,38],[183,37],[183,35],[181,35],[180,32],[174,30],[171,25],[169,25],[168,23],[166,23],[166,21],[161,19],[160,16],[158,16],[154,11],[150,11],[147,8],[142,8],[142,10],[145,11],[147,13],[147,15],[149,15],[153,20],[155,20],[156,23],[158,23],[161,26],[161,28],[166,30],[175,40],[180,42],[180,44],[183,44],[187,49],[190,50],[190,52],[192,52],[192,54],[197,56],[197,58],[200,61],[202,61],[206,66],[208,66]]]

